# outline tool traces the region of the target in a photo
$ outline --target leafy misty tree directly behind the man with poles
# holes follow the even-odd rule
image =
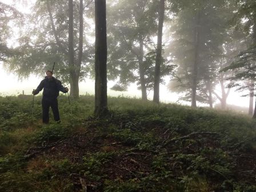
[[[17,47],[20,54],[6,67],[20,78],[27,78],[30,74],[45,74],[55,62],[54,74],[70,83],[71,97],[77,98],[78,82],[88,75],[92,67],[89,63],[93,62],[93,47],[86,38],[81,38],[81,31],[85,33],[86,29],[83,26],[88,26],[81,15],[91,16],[88,7],[93,3],[81,7],[81,1],[73,2],[74,62],[69,62],[69,1],[36,1],[20,29]]]

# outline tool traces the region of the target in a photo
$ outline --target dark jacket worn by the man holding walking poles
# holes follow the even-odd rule
[[[62,86],[61,81],[55,79],[54,77],[48,79],[45,77],[35,89],[35,94],[38,94],[43,89],[43,99],[54,100],[59,96],[59,91],[67,93],[65,87]]]

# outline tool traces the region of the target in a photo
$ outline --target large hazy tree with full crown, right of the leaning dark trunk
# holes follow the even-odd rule
[[[182,4],[183,3],[183,4]],[[213,103],[217,61],[229,29],[230,12],[225,1],[179,2],[181,10],[171,26],[170,56],[178,65],[169,89],[184,93],[181,99]]]

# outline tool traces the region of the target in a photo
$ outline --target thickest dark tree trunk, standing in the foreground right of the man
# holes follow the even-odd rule
[[[95,109],[103,117],[107,109],[106,0],[95,0]]]

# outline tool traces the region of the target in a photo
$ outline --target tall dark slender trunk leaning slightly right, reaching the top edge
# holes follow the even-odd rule
[[[165,16],[165,0],[160,0],[158,34],[157,34],[157,57],[155,58],[154,97],[153,97],[153,101],[155,103],[159,103],[160,66],[162,63],[162,35],[163,35],[164,16]]]

